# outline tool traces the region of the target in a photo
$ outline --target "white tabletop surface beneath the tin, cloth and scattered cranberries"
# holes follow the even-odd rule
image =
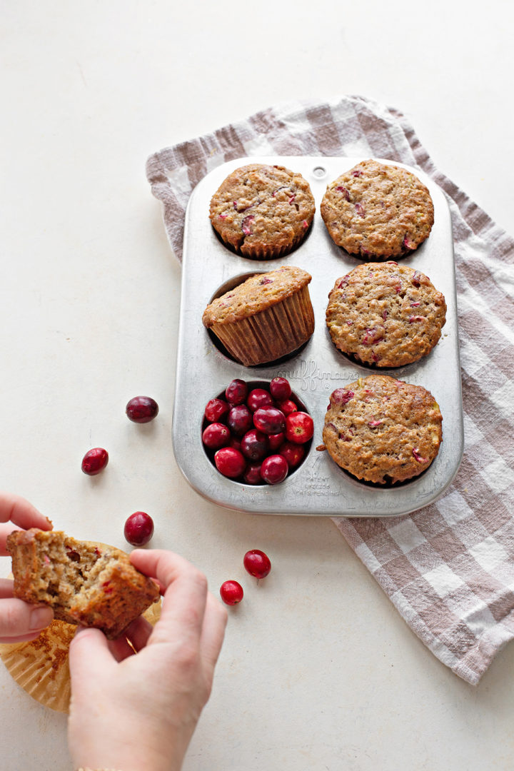
[[[180,265],[146,183],[153,151],[274,103],[369,96],[404,111],[436,166],[514,232],[512,5],[414,7],[2,3],[1,484],[55,527],[119,547],[146,510],[152,545],[190,558],[213,591],[244,583],[185,771],[514,763],[514,646],[466,685],[331,520],[223,510],[173,459]],[[139,394],[160,404],[148,426],[124,414]],[[80,470],[92,446],[110,455],[96,477]],[[250,548],[273,562],[258,585]],[[0,695],[2,771],[69,771],[65,716],[3,668]]]

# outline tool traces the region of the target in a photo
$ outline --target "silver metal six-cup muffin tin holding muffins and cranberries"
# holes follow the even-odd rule
[[[338,352],[325,324],[328,292],[334,281],[362,261],[351,257],[331,240],[321,219],[321,198],[329,182],[361,160],[365,159],[239,158],[213,169],[190,197],[184,232],[173,447],[186,480],[200,495],[220,506],[252,513],[392,517],[432,503],[459,469],[463,426],[452,223],[442,191],[421,171],[405,166],[430,190],[435,223],[427,241],[402,258],[401,264],[427,274],[435,288],[445,295],[448,311],[438,345],[414,364],[395,369],[371,369],[351,362]],[[380,158],[376,160],[393,163]],[[255,261],[240,257],[223,246],[211,227],[208,217],[210,198],[225,177],[245,163],[277,163],[300,172],[311,185],[316,200],[314,224],[306,241],[284,258]],[[202,324],[203,311],[227,282],[270,271],[281,264],[297,265],[312,275],[309,289],[316,324],[314,335],[300,352],[285,362],[246,368],[227,358],[213,344]],[[321,432],[331,392],[372,373],[424,385],[441,408],[443,441],[438,456],[425,473],[401,485],[381,487],[361,483],[341,470],[328,452],[316,449],[322,442]],[[217,471],[203,449],[204,406],[234,378],[270,381],[277,375],[291,382],[293,391],[314,418],[310,452],[304,463],[281,484],[254,487],[229,480]]]

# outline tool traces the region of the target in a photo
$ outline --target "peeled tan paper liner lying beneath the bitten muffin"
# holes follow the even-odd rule
[[[160,602],[153,603],[143,617],[155,625],[160,608]],[[69,645],[76,630],[76,625],[54,620],[35,640],[0,644],[9,675],[32,699],[55,712],[69,712]]]

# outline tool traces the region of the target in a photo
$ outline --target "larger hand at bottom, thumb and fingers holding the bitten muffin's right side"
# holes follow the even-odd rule
[[[77,632],[69,749],[76,767],[179,771],[210,695],[227,611],[183,557],[135,550],[130,559],[160,582],[161,617],[154,628],[136,619],[110,643],[98,629]]]

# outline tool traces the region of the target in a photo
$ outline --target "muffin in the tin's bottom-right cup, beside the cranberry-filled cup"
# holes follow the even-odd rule
[[[388,375],[369,375],[336,389],[323,442],[331,458],[359,480],[411,479],[428,469],[442,441],[442,416],[432,394]]]

